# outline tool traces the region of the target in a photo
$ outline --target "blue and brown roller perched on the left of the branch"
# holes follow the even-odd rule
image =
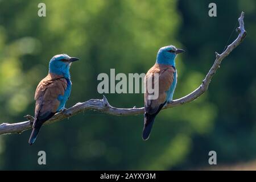
[[[64,110],[71,93],[71,76],[69,68],[76,57],[61,54],[53,56],[49,61],[48,75],[39,82],[35,91],[35,120],[29,144],[33,144],[40,127],[55,113]]]

